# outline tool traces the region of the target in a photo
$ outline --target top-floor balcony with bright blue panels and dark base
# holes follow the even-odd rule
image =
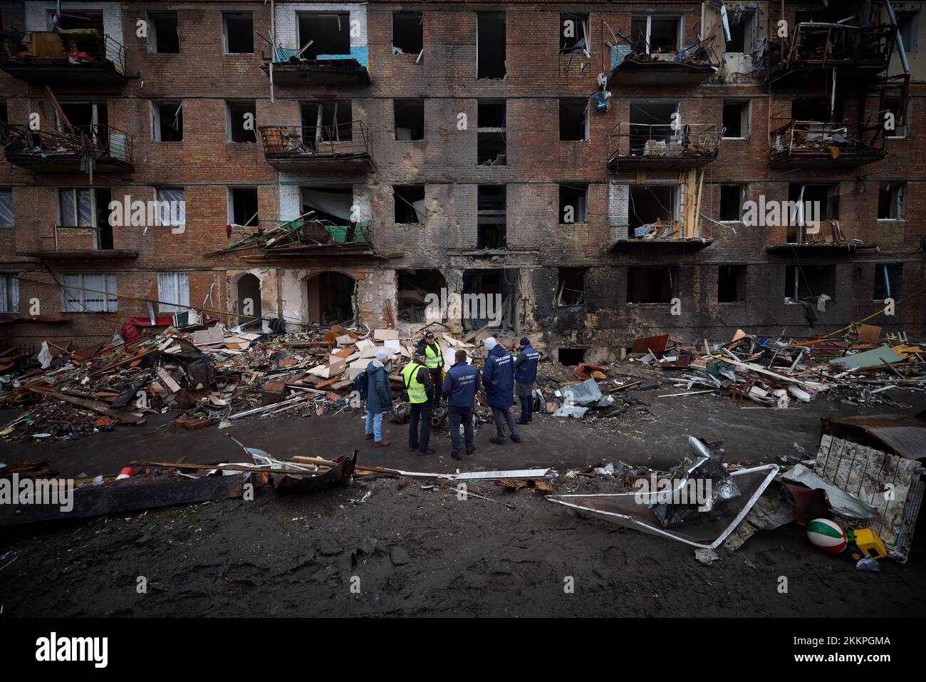
[[[276,49],[271,64],[264,64],[268,75],[273,67],[273,83],[292,85],[369,85],[367,48],[351,47],[344,55],[317,55],[313,59],[301,56],[300,50]]]

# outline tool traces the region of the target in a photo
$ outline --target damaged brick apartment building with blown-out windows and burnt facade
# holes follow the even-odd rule
[[[442,290],[567,362],[921,334],[923,5],[0,3],[0,344]]]

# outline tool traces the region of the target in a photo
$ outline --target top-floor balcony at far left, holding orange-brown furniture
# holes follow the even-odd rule
[[[127,80],[125,47],[94,29],[14,30],[0,41],[0,69],[33,85],[119,88]]]

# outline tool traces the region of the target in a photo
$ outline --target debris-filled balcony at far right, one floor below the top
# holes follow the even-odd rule
[[[884,158],[884,130],[880,125],[852,127],[845,123],[792,120],[770,133],[770,168],[850,169]]]

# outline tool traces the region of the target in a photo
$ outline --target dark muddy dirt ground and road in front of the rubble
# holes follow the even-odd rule
[[[135,460],[243,461],[228,437],[280,459],[331,458],[355,448],[359,462],[415,471],[552,466],[560,474],[607,461],[655,468],[686,453],[688,435],[724,441],[726,461],[812,457],[820,417],[912,413],[922,394],[892,391],[901,407],[859,408],[815,399],[791,410],[750,410],[729,398],[657,398],[638,391],[624,414],[578,422],[540,415],[523,443],[490,444],[483,424],[462,465],[406,447],[388,424],[391,448],[363,439],[357,413],[250,419],[232,429],[176,432],[168,415],[79,440],[0,445],[0,461],[49,461],[64,476],[115,474]],[[9,415],[0,414],[0,421]],[[567,491],[561,475],[557,490]],[[132,512],[24,528],[0,535],[0,604],[7,616],[923,616],[923,524],[906,564],[862,573],[824,555],[795,524],[759,533],[703,565],[681,543],[646,536],[555,505],[522,489],[470,486],[488,497],[420,480],[355,481],[294,496]],[[369,494],[369,497],[367,497]],[[361,501],[362,500],[362,501]],[[147,589],[139,592],[140,576]],[[787,591],[780,591],[782,577]],[[569,585],[574,586],[569,590]],[[854,595],[864,594],[865,599]]]

